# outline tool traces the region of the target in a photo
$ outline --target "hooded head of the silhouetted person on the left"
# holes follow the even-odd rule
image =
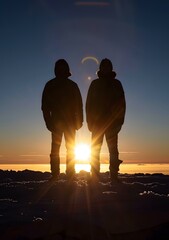
[[[56,77],[68,78],[71,76],[69,65],[64,59],[59,59],[55,62],[54,72]]]

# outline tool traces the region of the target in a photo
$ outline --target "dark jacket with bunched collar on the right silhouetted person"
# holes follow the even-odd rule
[[[93,80],[86,99],[86,119],[90,131],[93,127],[121,127],[124,123],[126,101],[122,84],[116,73],[98,72]]]

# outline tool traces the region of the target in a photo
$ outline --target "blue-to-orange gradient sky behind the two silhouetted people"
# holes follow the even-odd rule
[[[85,104],[98,69],[87,56],[110,58],[125,90],[120,158],[169,163],[168,0],[0,0],[0,29],[0,163],[49,162],[44,85],[65,58]],[[90,144],[86,122],[77,142]]]

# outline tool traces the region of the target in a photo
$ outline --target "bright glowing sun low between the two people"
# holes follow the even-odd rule
[[[90,158],[90,146],[85,143],[79,143],[75,146],[75,159],[87,162]]]

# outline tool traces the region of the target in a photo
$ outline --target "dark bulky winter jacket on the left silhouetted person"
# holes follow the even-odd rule
[[[78,85],[70,79],[48,81],[43,90],[41,108],[50,131],[66,126],[79,129],[82,126],[82,97]]]

